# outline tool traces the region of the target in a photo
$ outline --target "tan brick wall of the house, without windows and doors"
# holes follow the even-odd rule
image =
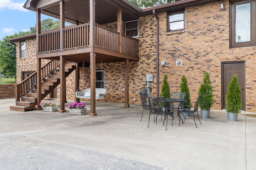
[[[194,103],[198,97],[203,73],[207,71],[210,74],[212,86],[214,86],[215,101],[212,109],[221,109],[221,63],[246,61],[246,111],[256,112],[256,85],[254,83],[256,47],[229,48],[229,2],[224,1],[224,4],[224,10],[220,10],[220,2],[186,8],[185,30],[174,33],[166,31],[167,13],[157,14],[160,24],[159,61],[167,61],[166,66],[159,64],[159,90],[161,90],[164,74],[168,75],[171,91],[180,91],[181,77],[185,75],[188,80],[191,101]],[[104,26],[116,30],[116,22]],[[153,15],[139,18],[138,39],[140,61],[130,61],[129,63],[130,104],[140,104],[138,92],[141,87],[146,87],[142,84],[146,74],[154,75],[154,81],[150,82],[150,87],[152,88],[151,95],[156,95],[156,18]],[[35,53],[35,49],[30,48],[30,50]],[[26,57],[25,61],[27,59]],[[36,64],[36,59],[28,60]],[[182,66],[176,66],[176,60],[182,60]],[[23,63],[24,61],[17,59],[17,75],[24,68],[32,68],[32,66],[26,66],[26,62],[19,66],[19,62]],[[36,66],[33,65],[33,67],[36,70]],[[104,70],[104,88],[107,90],[104,100],[98,101],[124,102],[124,62],[102,63],[102,66],[96,64],[96,69]],[[77,90],[74,89],[74,75],[70,75],[66,79],[66,86],[67,99],[73,100]],[[90,88],[90,68],[84,68],[84,72],[82,72],[81,67],[80,90],[85,88]],[[133,101],[133,98],[137,100]]]

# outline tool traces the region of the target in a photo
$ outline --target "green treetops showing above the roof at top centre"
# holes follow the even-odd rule
[[[158,5],[166,4],[166,0],[129,0],[132,4],[137,7],[153,7]],[[180,0],[167,0],[167,3],[172,3]]]

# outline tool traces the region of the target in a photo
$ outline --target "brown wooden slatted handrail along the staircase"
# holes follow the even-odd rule
[[[44,80],[49,74],[51,74],[56,68],[60,66],[60,61],[52,60],[49,63],[45,64],[41,68],[41,80]],[[16,92],[16,102],[20,101],[20,97],[24,96],[26,93],[28,93],[30,90],[34,89],[37,85],[37,72],[34,72],[30,76],[28,76],[26,79],[24,79],[22,82],[17,83],[15,86],[15,92]]]

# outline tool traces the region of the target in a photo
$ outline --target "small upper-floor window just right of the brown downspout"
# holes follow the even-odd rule
[[[168,32],[184,30],[184,11],[168,14]]]

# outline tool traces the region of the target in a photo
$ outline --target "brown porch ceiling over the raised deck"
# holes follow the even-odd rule
[[[54,2],[54,1],[53,1]],[[65,0],[65,18],[66,21],[75,23],[88,23],[90,20],[89,0]],[[128,0],[95,0],[95,20],[96,23],[104,24],[117,21],[117,7],[122,7],[122,19],[133,20],[138,18],[136,14],[140,13],[140,9],[130,3]],[[42,1],[36,6],[38,0],[30,0],[26,2],[24,8],[36,11],[41,9],[41,13],[54,18],[60,18],[59,2],[50,4],[51,2]]]

